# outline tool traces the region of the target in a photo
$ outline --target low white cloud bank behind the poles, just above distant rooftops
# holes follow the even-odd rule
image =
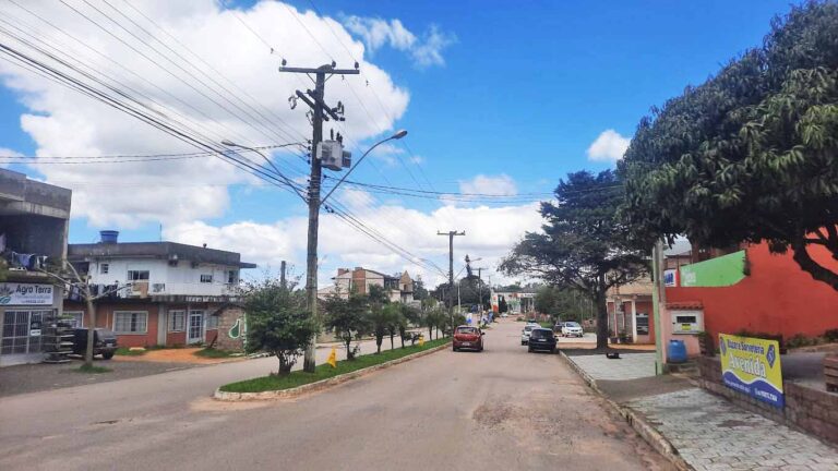
[[[339,196],[344,204],[349,204],[344,193]],[[447,270],[448,244],[436,235],[436,231],[464,230],[466,235],[457,238],[455,243],[455,270],[463,266],[466,254],[472,258],[482,257],[480,265],[490,269],[493,281],[505,279],[494,273],[500,257],[525,231],[538,230],[541,225],[537,203],[505,207],[443,206],[433,212],[367,204],[356,205],[352,213],[380,237],[404,247],[418,259],[432,261],[442,271]],[[285,259],[304,270],[307,225],[303,217],[287,217],[273,224],[243,221],[220,227],[195,221],[166,227],[164,235],[178,242],[206,243],[211,247],[237,251],[242,254],[242,259],[256,262],[262,267],[275,268]],[[433,286],[445,281],[444,274],[418,267],[335,215],[321,216],[319,242],[320,286],[326,286],[338,267],[355,266],[393,274],[408,270],[414,276],[421,275]]]

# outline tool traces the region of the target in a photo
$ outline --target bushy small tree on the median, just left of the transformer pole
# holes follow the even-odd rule
[[[306,293],[266,278],[244,288],[248,350],[266,351],[279,360],[278,375],[287,375],[318,333],[306,309]]]

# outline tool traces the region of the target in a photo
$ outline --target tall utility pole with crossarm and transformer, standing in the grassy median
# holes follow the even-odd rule
[[[356,63],[357,65],[357,63]],[[335,69],[335,63],[321,65],[316,69],[310,68],[288,68],[280,67],[279,72],[288,73],[303,73],[314,74],[314,90],[306,90],[302,93],[297,90],[296,97],[304,101],[312,110],[313,128],[311,136],[311,174],[309,177],[309,234],[308,234],[308,253],[306,256],[306,293],[309,304],[309,313],[318,326],[321,325],[320,316],[318,315],[318,228],[320,225],[320,184],[323,179],[323,169],[321,161],[318,159],[318,145],[323,141],[323,121],[328,121],[332,117],[335,121],[343,121],[344,118],[337,113],[340,106],[332,108],[324,101],[324,92],[326,87],[326,75],[357,75],[359,73],[356,69]],[[292,100],[296,102],[296,98],[292,96]],[[302,362],[302,370],[308,373],[314,373],[315,366],[315,348],[316,348],[316,335],[312,339],[309,348],[306,349],[306,357]]]

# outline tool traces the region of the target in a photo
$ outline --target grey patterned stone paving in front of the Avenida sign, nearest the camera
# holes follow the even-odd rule
[[[698,471],[838,470],[836,449],[703,389],[648,396],[626,406],[642,412]]]

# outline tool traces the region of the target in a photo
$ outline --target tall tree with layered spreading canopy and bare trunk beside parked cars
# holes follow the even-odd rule
[[[541,204],[542,231],[527,232],[501,270],[585,292],[597,305],[597,348],[607,348],[606,291],[646,273],[646,254],[628,244],[618,218],[623,194],[613,171],[570,173],[554,193],[555,203]]]

